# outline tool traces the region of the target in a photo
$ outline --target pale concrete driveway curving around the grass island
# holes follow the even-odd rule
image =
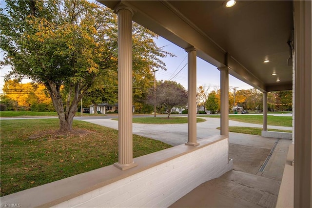
[[[220,134],[220,130],[216,129],[220,126],[219,118],[205,118],[205,122],[197,123],[197,139],[202,139],[215,134]],[[93,124],[103,125],[110,128],[118,129],[118,121],[112,119],[83,119],[76,117],[77,120],[84,120]],[[248,126],[248,127],[262,127],[262,125],[249,124],[243,122],[229,121],[230,126]],[[154,125],[154,124],[133,124],[133,133],[145,136],[148,138],[156,139],[172,146],[177,146],[187,142],[188,125],[187,124],[166,124],[166,125]],[[268,126],[268,128],[275,129],[287,129],[292,130],[292,127],[285,126]],[[261,142],[257,142],[257,139],[261,138]],[[248,140],[248,141],[246,141]],[[274,142],[268,142],[271,139],[266,139],[260,136],[254,136],[249,134],[238,134],[230,132],[230,142],[234,144],[244,144],[254,147],[272,147]],[[269,144],[268,144],[269,143]]]

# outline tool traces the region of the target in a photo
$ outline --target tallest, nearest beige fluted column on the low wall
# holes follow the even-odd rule
[[[132,16],[127,7],[117,8],[118,16],[118,162],[126,170],[137,166],[132,147]]]

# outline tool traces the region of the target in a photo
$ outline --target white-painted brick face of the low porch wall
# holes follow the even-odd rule
[[[228,138],[183,154],[55,207],[168,207],[233,167]]]

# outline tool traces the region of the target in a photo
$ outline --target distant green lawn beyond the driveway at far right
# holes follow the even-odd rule
[[[220,118],[220,115],[200,115],[199,117]],[[229,115],[229,119],[250,124],[263,124],[263,115]],[[292,116],[268,115],[268,125],[292,126]]]

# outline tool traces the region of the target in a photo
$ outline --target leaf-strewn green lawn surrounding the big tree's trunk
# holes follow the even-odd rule
[[[56,136],[59,119],[1,121],[1,196],[108,166],[118,161],[115,129],[74,120]],[[133,157],[171,147],[133,135]]]

